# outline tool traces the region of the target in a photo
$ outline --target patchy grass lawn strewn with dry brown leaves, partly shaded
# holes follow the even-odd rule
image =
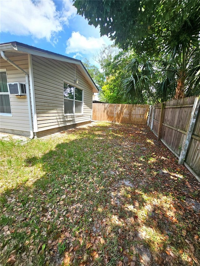
[[[200,184],[147,126],[0,144],[1,265],[199,265]]]

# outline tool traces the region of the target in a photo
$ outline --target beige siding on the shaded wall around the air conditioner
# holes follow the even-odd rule
[[[28,72],[28,56],[24,54],[9,57],[15,64],[19,65],[23,70]],[[6,69],[8,82],[25,83],[25,75],[22,71],[17,70],[7,61],[0,58],[0,69]],[[27,97],[16,97],[10,95],[12,116],[0,116],[0,127],[5,129],[13,129],[19,131],[30,131]]]

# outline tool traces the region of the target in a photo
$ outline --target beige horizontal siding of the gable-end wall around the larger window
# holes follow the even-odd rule
[[[38,131],[91,120],[92,88],[76,67],[77,87],[83,89],[83,115],[65,115],[63,80],[74,84],[75,65],[32,55]]]

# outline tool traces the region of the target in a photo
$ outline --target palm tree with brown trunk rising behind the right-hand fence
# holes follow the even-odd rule
[[[200,93],[200,5],[199,1],[178,2],[179,11],[168,23],[169,34],[164,39],[164,52],[173,65],[171,78],[176,80],[174,99]],[[173,5],[175,8],[176,1]]]

